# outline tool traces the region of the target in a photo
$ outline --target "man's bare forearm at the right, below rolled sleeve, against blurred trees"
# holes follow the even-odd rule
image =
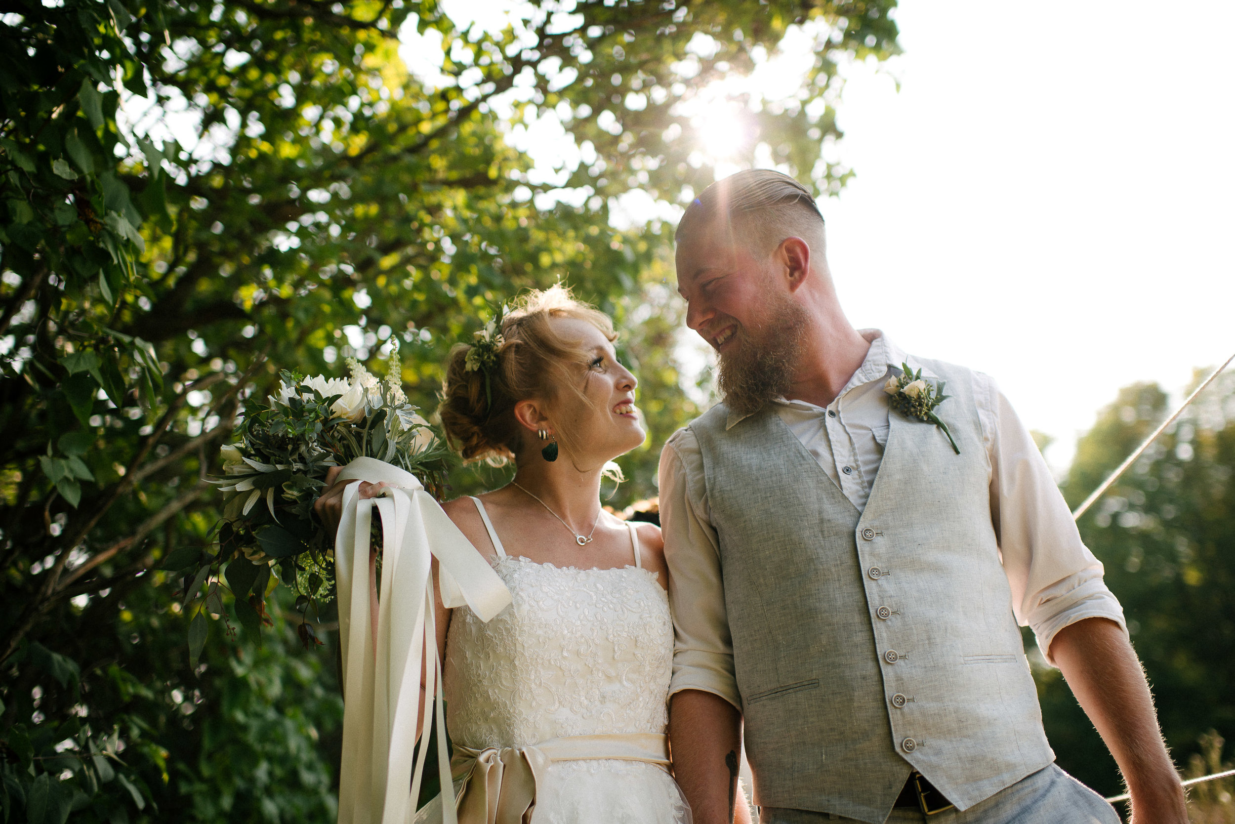
[[[1132,796],[1131,820],[1184,824],[1183,787],[1124,630],[1103,618],[1077,621],[1055,635],[1051,657],[1124,773]]]

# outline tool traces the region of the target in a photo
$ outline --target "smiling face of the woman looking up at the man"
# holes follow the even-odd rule
[[[561,410],[555,415],[558,427],[571,430],[574,463],[599,466],[640,446],[646,434],[635,408],[638,380],[618,362],[614,345],[585,320],[555,317],[552,322],[563,337],[579,341],[588,358],[577,384],[588,403],[573,392],[558,393]]]

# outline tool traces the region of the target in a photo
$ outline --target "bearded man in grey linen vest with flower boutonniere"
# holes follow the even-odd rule
[[[855,330],[823,217],[783,174],[709,187],[677,271],[724,395],[661,457],[669,731],[695,823],[745,820],[743,731],[764,824],[1119,822],[1053,765],[1018,623],[1115,756],[1135,820],[1187,822],[1119,602],[990,378]],[[934,411],[958,452],[889,409],[903,363],[946,380]]]

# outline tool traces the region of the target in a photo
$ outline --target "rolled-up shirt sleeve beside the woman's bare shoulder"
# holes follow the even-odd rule
[[[700,689],[720,696],[741,712],[720,545],[708,515],[703,457],[690,430],[679,430],[666,442],[659,484],[674,636],[669,696]]]

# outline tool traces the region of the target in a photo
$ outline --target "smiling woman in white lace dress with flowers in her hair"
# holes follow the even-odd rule
[[[661,531],[600,507],[605,465],[645,439],[615,338],[553,287],[450,355],[438,414],[452,447],[516,466],[509,486],[445,505],[513,598],[482,623],[437,595],[461,822],[690,822],[669,773]],[[331,529],[343,486],[317,502]]]

